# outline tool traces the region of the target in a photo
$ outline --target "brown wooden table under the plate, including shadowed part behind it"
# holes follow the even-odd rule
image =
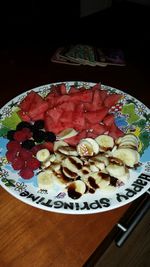
[[[50,55],[9,54],[0,63],[0,106],[16,95],[55,81],[99,82],[149,103],[150,77],[143,66],[73,67]],[[108,236],[130,204],[91,215],[66,215],[29,206],[0,188],[0,266],[80,267]]]

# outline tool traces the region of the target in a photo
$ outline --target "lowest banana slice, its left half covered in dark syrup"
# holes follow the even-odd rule
[[[72,199],[78,199],[85,193],[86,185],[83,181],[77,180],[70,183],[67,189],[69,197]]]

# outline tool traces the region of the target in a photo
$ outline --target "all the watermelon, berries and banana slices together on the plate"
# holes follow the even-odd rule
[[[139,164],[139,140],[125,135],[110,112],[122,97],[100,84],[69,92],[55,85],[46,97],[30,91],[19,104],[22,121],[7,133],[8,162],[23,179],[37,171],[41,189],[61,183],[73,199],[126,183]]]

